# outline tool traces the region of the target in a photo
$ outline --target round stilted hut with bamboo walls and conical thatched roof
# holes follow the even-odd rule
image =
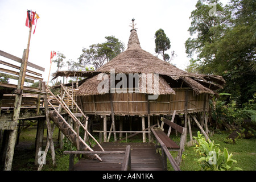
[[[126,51],[85,78],[76,95],[82,110],[92,120],[97,120],[97,115],[104,118],[105,142],[107,115],[111,115],[110,130],[113,127],[114,138],[115,118],[119,121],[119,130],[122,130],[123,119],[129,121],[130,130],[132,121],[137,130],[145,130],[158,121],[159,115],[175,113],[184,113],[186,123],[189,113],[201,112],[204,118],[209,110],[210,94],[217,94],[216,90],[223,84],[225,80],[221,76],[187,73],[144,51],[133,29]]]

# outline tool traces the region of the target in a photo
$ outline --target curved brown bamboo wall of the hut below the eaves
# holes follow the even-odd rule
[[[146,94],[141,93],[113,93],[112,102],[115,115],[151,115],[172,114],[185,112],[186,92],[188,90],[187,112],[208,111],[209,95],[196,96],[188,88],[174,89],[176,95],[160,95],[157,100],[147,100]],[[110,115],[110,94],[81,96],[82,108],[85,114]],[[205,104],[204,104],[205,102]],[[148,105],[149,104],[149,105]]]

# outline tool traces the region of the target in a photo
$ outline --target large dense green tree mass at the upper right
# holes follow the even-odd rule
[[[214,16],[209,14],[210,4],[216,7]],[[226,85],[222,92],[231,93],[239,106],[256,92],[256,76],[250,67],[256,61],[256,45],[251,41],[256,18],[253,7],[255,1],[232,0],[223,7],[219,1],[199,0],[188,30],[196,36],[185,42],[188,57],[197,53],[188,69],[223,76]]]

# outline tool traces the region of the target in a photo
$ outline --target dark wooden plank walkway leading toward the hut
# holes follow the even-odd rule
[[[105,151],[125,151],[131,146],[131,171],[163,171],[160,154],[152,143],[101,143]],[[98,146],[94,151],[101,151]],[[80,159],[74,171],[120,171],[125,154],[101,154],[102,162],[95,159]]]

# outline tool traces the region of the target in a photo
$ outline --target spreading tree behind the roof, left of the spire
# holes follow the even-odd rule
[[[89,49],[82,48],[79,63],[92,64],[95,69],[98,69],[124,50],[123,43],[114,36],[106,36],[105,39],[107,39],[105,43],[92,44]]]

